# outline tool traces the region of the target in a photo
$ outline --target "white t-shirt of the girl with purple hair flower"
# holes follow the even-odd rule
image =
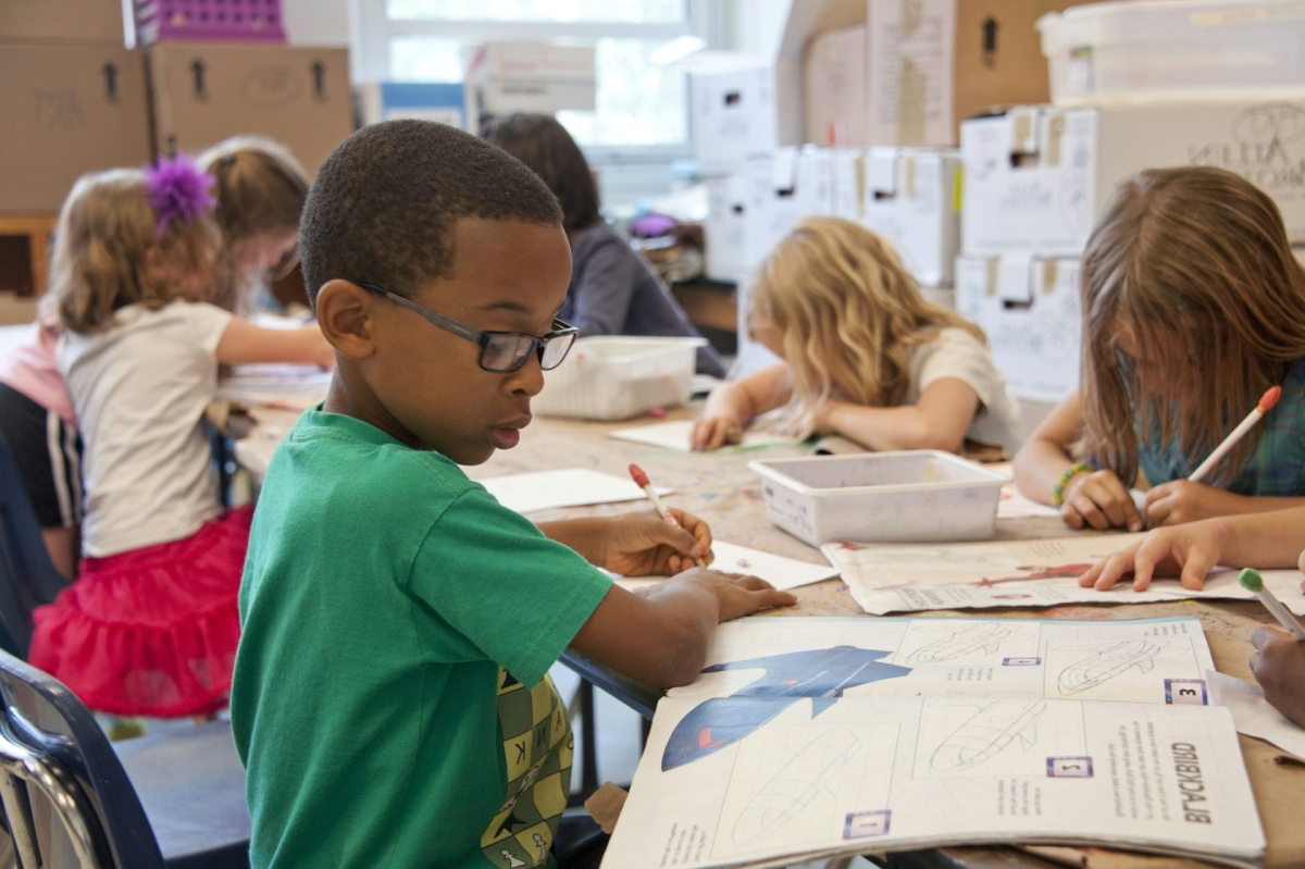
[[[210,304],[128,305],[116,326],[65,330],[59,368],[85,455],[82,552],[108,556],[181,540],[222,514],[200,423],[218,388],[231,314]]]

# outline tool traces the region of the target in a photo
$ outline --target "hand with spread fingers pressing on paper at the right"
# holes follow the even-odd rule
[[[1178,574],[1184,588],[1199,591],[1219,557],[1219,540],[1212,534],[1202,534],[1193,526],[1158,528],[1088,568],[1078,585],[1107,591],[1131,573],[1133,590],[1146,591],[1152,577]]]

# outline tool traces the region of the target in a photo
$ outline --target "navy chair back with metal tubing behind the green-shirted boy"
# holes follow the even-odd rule
[[[0,810],[17,865],[163,869],[117,754],[63,682],[0,651]]]

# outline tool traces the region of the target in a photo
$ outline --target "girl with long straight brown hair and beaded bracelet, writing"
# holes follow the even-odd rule
[[[1094,528],[1305,505],[1305,273],[1274,201],[1220,168],[1139,172],[1081,274],[1082,386],[1017,455],[1021,491]],[[1190,483],[1275,384],[1278,406]]]

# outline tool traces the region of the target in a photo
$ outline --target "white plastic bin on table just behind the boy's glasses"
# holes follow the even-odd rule
[[[581,338],[562,364],[544,372],[531,402],[544,416],[629,419],[693,395],[693,369],[706,338],[594,335]]]

